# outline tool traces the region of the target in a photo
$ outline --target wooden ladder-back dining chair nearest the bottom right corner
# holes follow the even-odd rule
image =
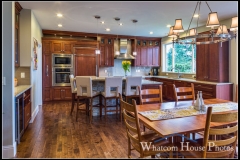
[[[178,151],[185,158],[233,158],[234,152],[236,150],[237,143],[237,132],[238,132],[238,111],[225,112],[225,113],[212,113],[212,107],[208,107],[204,137],[194,141],[182,142],[178,146]],[[215,128],[210,127],[211,123],[224,123],[232,122],[233,125],[226,128]],[[235,123],[236,122],[236,123]],[[211,139],[212,136],[224,136],[232,134],[233,136],[225,136],[224,139]],[[188,148],[199,148],[202,147],[202,151],[197,150],[187,150],[186,147],[182,148],[183,145],[186,146],[188,143]],[[184,150],[182,150],[184,149]]]

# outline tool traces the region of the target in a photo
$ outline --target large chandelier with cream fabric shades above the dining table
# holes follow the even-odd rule
[[[225,42],[230,40],[232,37],[236,37],[237,35],[237,29],[238,29],[238,17],[233,17],[232,18],[232,24],[230,31],[233,31],[234,35],[230,35],[228,33],[227,27],[225,25],[220,25],[219,20],[218,20],[218,15],[217,12],[212,12],[210,6],[206,2],[206,5],[208,6],[210,13],[208,14],[208,20],[206,23],[206,27],[211,27],[211,30],[209,31],[210,34],[198,34],[197,28],[198,28],[198,22],[199,22],[199,16],[197,19],[197,27],[196,28],[191,28],[191,23],[193,20],[194,15],[196,15],[196,9],[198,8],[198,13],[200,13],[200,6],[201,2],[197,2],[197,5],[195,7],[194,13],[192,15],[190,24],[188,26],[188,30],[186,31],[186,36],[181,37],[179,36],[179,32],[183,32],[184,29],[182,27],[182,19],[176,19],[175,20],[175,25],[173,28],[170,28],[169,37],[176,37],[176,39],[173,38],[173,43],[179,43],[179,44],[211,44],[211,43],[219,43],[219,42]],[[214,27],[218,27],[217,32],[215,33]],[[174,34],[173,34],[174,33]],[[198,38],[208,38],[206,41],[201,41],[197,42]],[[214,39],[216,38],[216,39]]]

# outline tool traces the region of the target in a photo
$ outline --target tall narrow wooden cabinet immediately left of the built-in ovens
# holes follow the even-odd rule
[[[51,41],[42,42],[42,97],[43,101],[51,101],[52,87],[52,55]]]

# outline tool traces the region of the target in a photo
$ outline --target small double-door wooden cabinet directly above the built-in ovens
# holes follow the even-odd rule
[[[71,41],[53,41],[52,53],[73,53],[73,42]]]

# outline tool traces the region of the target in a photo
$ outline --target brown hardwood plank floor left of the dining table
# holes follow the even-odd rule
[[[120,116],[93,117],[76,122],[71,102],[44,104],[17,146],[16,158],[127,158],[127,135]],[[132,157],[139,153],[132,152]]]

